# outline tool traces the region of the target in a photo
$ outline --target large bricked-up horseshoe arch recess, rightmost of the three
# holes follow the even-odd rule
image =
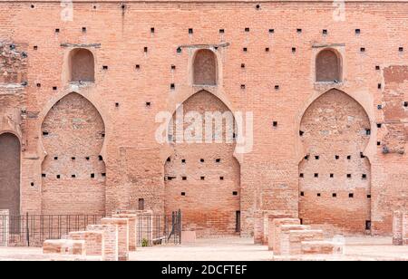
[[[299,134],[299,217],[335,233],[366,233],[371,226],[371,166],[363,151],[370,139],[364,108],[332,89],[306,110]]]

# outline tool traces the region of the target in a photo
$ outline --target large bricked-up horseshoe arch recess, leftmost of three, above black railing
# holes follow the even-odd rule
[[[80,94],[53,105],[42,124],[44,214],[104,214],[104,135],[100,113]]]

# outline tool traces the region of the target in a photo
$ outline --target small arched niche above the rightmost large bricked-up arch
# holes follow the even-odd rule
[[[342,81],[341,54],[334,49],[324,49],[316,55],[316,82]]]

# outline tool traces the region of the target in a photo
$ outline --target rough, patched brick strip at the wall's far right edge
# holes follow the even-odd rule
[[[381,168],[374,169],[377,181],[373,188],[372,212],[374,228],[388,232],[393,224],[393,211],[407,208],[408,175],[406,173],[408,116],[408,76],[406,65],[387,65],[382,69],[384,86],[379,108],[381,128],[378,130],[378,158]]]

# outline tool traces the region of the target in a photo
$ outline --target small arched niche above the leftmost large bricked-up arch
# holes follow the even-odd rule
[[[74,49],[70,53],[70,82],[94,82],[95,61],[87,49]]]

